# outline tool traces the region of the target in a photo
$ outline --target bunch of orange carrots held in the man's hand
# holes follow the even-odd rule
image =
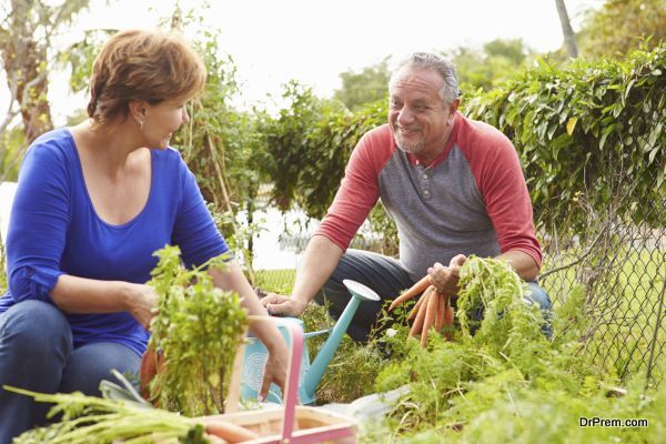
[[[432,284],[431,276],[426,275],[411,289],[403,292],[391,303],[389,311],[393,311],[393,309],[400,304],[421,293],[423,293],[423,295],[407,315],[407,320],[414,320],[412,329],[410,329],[410,337],[414,337],[421,333],[421,346],[425,347],[431,327],[434,326],[435,331],[442,332],[442,329],[445,325],[453,325],[453,307],[451,306],[451,300],[448,295],[437,291]],[[451,329],[446,329],[444,336],[448,341],[453,339]]]

